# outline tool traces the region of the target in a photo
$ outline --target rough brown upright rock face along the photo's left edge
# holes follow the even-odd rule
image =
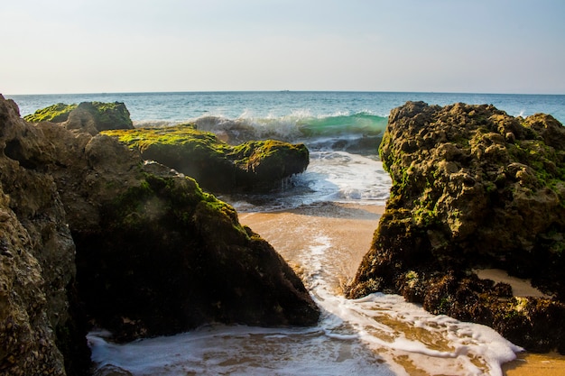
[[[46,170],[52,145],[0,96],[0,371],[79,374],[89,363],[75,244]]]

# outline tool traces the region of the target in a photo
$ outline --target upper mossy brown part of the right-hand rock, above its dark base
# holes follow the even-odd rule
[[[409,220],[431,261],[495,265],[565,296],[564,137],[549,115],[409,102],[392,111],[380,146],[393,179],[387,211]]]

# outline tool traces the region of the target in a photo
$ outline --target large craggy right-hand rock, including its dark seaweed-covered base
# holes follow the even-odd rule
[[[394,109],[380,146],[391,197],[348,296],[401,293],[529,350],[565,352],[564,140],[550,115]],[[531,278],[554,298],[515,298],[507,285],[478,280],[476,267]]]

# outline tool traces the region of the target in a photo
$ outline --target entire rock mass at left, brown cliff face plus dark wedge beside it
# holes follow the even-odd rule
[[[208,322],[313,325],[301,280],[194,179],[70,111],[23,121],[0,96],[0,372],[80,374],[88,325],[116,339]]]

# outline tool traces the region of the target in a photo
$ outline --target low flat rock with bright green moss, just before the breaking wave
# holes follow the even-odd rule
[[[193,124],[162,128],[107,131],[145,160],[156,160],[217,193],[264,190],[306,170],[309,151],[304,144],[273,140],[231,146],[214,133]]]

